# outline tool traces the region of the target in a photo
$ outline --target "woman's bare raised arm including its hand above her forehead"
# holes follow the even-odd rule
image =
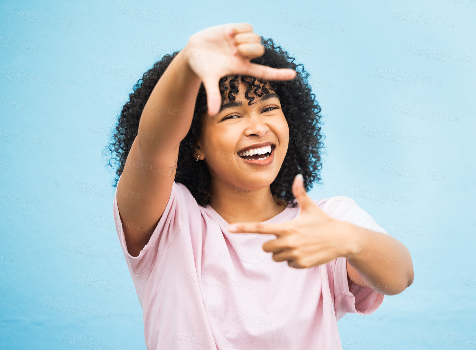
[[[208,114],[215,115],[221,105],[218,81],[222,76],[247,75],[268,80],[296,76],[292,69],[249,62],[263,53],[261,38],[253,33],[250,24],[213,26],[193,34],[160,77],[144,106],[117,188],[130,255],[138,256],[149,242],[167,206],[178,147],[190,128],[200,84],[203,82],[207,92]],[[194,159],[190,157],[190,161]]]

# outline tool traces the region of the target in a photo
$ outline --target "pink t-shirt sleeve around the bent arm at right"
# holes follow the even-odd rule
[[[356,226],[387,234],[388,232],[379,227],[377,222],[362,208],[354,199],[337,196],[332,197],[326,203],[327,214],[341,221],[350,222]],[[334,275],[334,308],[337,320],[346,313],[357,312],[368,315],[382,304],[385,294],[379,293],[372,288],[362,287],[347,280],[347,259],[340,256],[333,262]]]

